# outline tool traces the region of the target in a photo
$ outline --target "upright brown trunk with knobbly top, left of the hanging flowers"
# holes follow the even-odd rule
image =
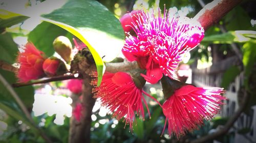
[[[95,103],[95,99],[92,94],[92,86],[91,86],[91,77],[90,73],[92,71],[96,71],[95,63],[92,59],[88,58],[91,56],[90,52],[86,51],[86,56],[80,56],[80,61],[78,63],[74,63],[74,67],[77,69],[73,69],[78,71],[83,78],[83,87],[82,87],[82,116],[80,122],[76,121],[73,117],[70,121],[70,130],[69,130],[69,143],[87,143],[90,142],[91,136],[91,115],[92,109]],[[77,102],[78,97],[73,97],[73,109]]]

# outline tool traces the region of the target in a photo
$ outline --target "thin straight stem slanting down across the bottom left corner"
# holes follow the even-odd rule
[[[17,93],[13,90],[13,88],[11,87],[11,85],[6,81],[6,79],[2,76],[2,74],[0,74],[0,81],[4,84],[4,87],[11,93],[12,97],[16,100],[16,102],[18,103],[19,107],[22,109],[22,111],[25,113],[26,117],[28,118],[28,120],[35,125],[32,117],[30,116],[29,111],[27,110],[25,104],[23,103],[22,100],[20,100],[20,98],[18,97]],[[36,129],[38,129],[39,134],[41,135],[42,138],[45,139],[46,142],[48,143],[52,143],[52,141],[44,134],[44,132],[42,132],[39,128],[36,127]]]

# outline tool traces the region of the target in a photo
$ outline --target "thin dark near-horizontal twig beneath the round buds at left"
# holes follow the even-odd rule
[[[39,80],[35,82],[27,82],[27,83],[14,83],[12,84],[13,88],[18,88],[18,87],[24,87],[27,85],[33,85],[33,84],[40,84],[40,83],[48,83],[52,81],[60,81],[60,80],[67,80],[67,79],[75,79],[75,78],[81,78],[81,75],[79,74],[77,77],[75,77],[73,74],[72,75],[61,75],[61,76],[56,76],[44,80]]]

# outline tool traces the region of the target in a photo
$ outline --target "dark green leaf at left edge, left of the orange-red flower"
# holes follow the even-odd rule
[[[18,47],[9,33],[0,35],[0,60],[13,64],[16,59]]]

